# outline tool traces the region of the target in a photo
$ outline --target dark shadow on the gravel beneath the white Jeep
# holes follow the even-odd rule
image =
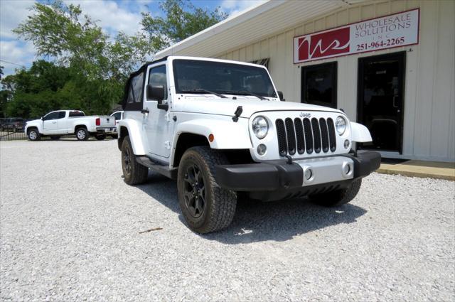
[[[137,188],[177,212],[181,222],[186,225],[178,205],[176,181],[151,173],[147,183]],[[271,203],[242,199],[237,202],[237,210],[228,229],[201,237],[225,244],[267,240],[281,242],[331,225],[355,222],[366,212],[356,205],[321,207],[304,199]]]

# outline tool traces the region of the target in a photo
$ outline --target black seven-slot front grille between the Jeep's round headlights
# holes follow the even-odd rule
[[[308,118],[277,119],[278,150],[280,156],[294,155],[295,153],[311,154],[336,151],[336,135],[333,119]]]

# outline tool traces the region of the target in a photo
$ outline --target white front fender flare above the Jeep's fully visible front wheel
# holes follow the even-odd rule
[[[248,133],[247,119],[238,122],[220,121],[215,119],[192,119],[178,124],[173,148],[176,148],[178,136],[183,133],[205,136],[212,149],[251,149],[251,139]],[[208,136],[213,134],[212,142]]]

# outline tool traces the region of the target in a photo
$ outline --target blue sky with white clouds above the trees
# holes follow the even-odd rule
[[[159,0],[64,0],[65,3],[79,4],[83,14],[97,20],[98,24],[115,36],[118,31],[133,34],[140,31],[141,11],[160,14]],[[264,0],[192,0],[198,7],[220,8],[231,16],[257,5]],[[33,0],[0,0],[0,65],[4,74],[11,75],[16,68],[30,67],[36,60],[36,51],[31,43],[19,40],[12,29],[26,19],[33,6]],[[14,64],[13,64],[14,63]]]

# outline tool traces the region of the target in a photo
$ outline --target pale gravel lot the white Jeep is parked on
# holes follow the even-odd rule
[[[455,300],[454,182],[375,173],[336,209],[242,200],[200,236],[176,183],[123,182],[117,141],[2,141],[0,156],[4,301]]]

